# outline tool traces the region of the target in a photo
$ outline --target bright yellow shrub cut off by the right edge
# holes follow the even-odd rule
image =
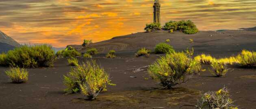
[[[240,65],[252,67],[256,65],[256,52],[243,50],[237,57]]]

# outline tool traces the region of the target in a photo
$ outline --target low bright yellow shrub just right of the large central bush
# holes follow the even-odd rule
[[[212,62],[216,61],[216,59],[213,58],[212,56],[205,55],[205,54],[196,56],[196,57],[194,57],[194,59],[195,59],[195,61],[198,61],[203,64],[208,64],[208,65],[210,65]]]

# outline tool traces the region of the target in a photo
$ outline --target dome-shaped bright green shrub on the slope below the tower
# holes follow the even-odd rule
[[[161,53],[173,53],[174,48],[166,43],[159,43],[156,45],[155,53],[161,54]]]

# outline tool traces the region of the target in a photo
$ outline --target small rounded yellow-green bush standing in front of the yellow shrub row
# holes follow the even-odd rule
[[[215,62],[212,62],[210,66],[212,67],[210,72],[213,75],[216,75],[216,77],[222,77],[226,75],[226,73],[228,72],[228,67],[225,63],[220,63],[218,61],[215,61]]]

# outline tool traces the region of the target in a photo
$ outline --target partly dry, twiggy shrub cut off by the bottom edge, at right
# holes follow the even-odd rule
[[[200,109],[238,109],[234,107],[227,88],[222,88],[216,92],[207,92],[198,101]]]

